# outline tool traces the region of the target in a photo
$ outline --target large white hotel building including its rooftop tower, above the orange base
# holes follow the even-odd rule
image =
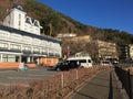
[[[61,57],[61,41],[40,35],[40,22],[14,6],[0,24],[0,62],[31,63],[43,57]]]

